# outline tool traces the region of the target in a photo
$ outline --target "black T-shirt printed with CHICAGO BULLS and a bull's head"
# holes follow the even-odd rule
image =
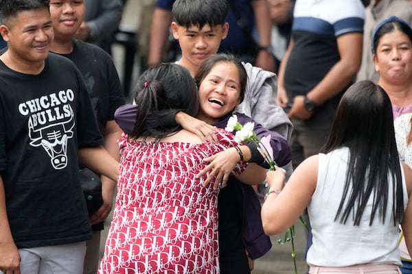
[[[76,66],[49,54],[38,75],[0,62],[0,174],[17,247],[91,236],[78,177],[78,148],[102,145]]]

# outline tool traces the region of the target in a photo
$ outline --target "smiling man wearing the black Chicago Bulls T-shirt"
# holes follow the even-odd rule
[[[47,0],[1,0],[0,270],[82,271],[91,238],[78,166],[117,181],[76,66],[49,53]]]

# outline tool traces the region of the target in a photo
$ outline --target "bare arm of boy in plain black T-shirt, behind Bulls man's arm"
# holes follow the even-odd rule
[[[104,149],[117,161],[120,160],[119,146],[117,140],[122,136],[122,129],[112,120],[106,123],[106,133],[104,134]],[[92,224],[101,223],[113,207],[113,196],[117,182],[102,175],[102,197],[103,205],[91,215],[90,221]]]

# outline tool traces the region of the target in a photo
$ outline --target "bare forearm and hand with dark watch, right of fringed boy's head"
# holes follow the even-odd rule
[[[272,21],[271,14],[269,13],[269,5],[266,0],[252,1],[253,13],[255,15],[255,25],[258,29],[259,45],[262,47],[268,47],[271,45],[272,35]],[[275,72],[275,58],[273,53],[262,49],[258,52],[255,60],[255,66],[259,66],[265,71]]]

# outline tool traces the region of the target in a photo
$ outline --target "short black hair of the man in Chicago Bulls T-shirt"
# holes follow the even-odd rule
[[[49,10],[49,0],[0,0],[0,20],[6,24],[10,18],[15,18],[19,12],[27,10]]]

